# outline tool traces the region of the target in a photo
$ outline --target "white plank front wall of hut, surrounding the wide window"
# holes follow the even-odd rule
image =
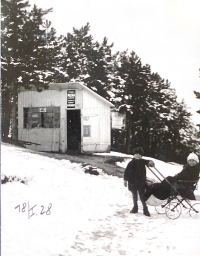
[[[31,144],[28,147],[38,151],[62,151],[67,149],[67,89],[37,91],[22,91],[18,100],[18,138],[19,140],[33,142],[42,145]],[[76,90],[76,102],[82,107],[82,95]],[[60,128],[32,128],[25,129],[23,124],[23,108],[28,107],[59,107]]]

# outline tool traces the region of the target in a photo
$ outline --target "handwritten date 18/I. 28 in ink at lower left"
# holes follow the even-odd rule
[[[39,210],[37,208],[40,208]],[[52,204],[50,203],[47,207],[44,205],[37,206],[37,204],[30,206],[28,203],[19,204],[15,207],[15,209],[19,210],[19,213],[28,213],[28,218],[30,219],[32,216],[36,215],[50,215],[51,214]]]

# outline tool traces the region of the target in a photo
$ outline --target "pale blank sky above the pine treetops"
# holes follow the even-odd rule
[[[30,0],[53,8],[47,16],[58,34],[87,22],[97,41],[108,38],[113,52],[134,51],[152,72],[171,82],[178,101],[185,100],[192,121],[200,124],[199,0]]]

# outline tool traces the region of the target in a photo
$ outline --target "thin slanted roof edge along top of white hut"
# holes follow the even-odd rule
[[[83,83],[80,82],[70,82],[70,83],[50,83],[49,88],[47,90],[66,90],[66,89],[79,89],[79,90],[86,90],[89,91],[91,94],[94,95],[94,97],[98,98],[101,101],[104,101],[106,104],[108,104],[111,107],[114,107],[114,105],[106,100],[105,98],[101,97],[99,94],[85,86]],[[36,91],[37,88],[33,85],[31,89],[25,89],[24,87],[20,88],[20,91]]]

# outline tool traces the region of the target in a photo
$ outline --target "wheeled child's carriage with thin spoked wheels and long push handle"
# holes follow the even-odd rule
[[[196,200],[194,190],[197,188],[199,179],[195,181],[178,180],[176,183],[171,183],[170,176],[167,179],[155,167],[153,167],[154,170],[148,168],[161,181],[161,183],[147,186],[145,191],[146,203],[155,206],[157,213],[165,214],[169,219],[177,219],[183,212],[191,217],[199,213],[200,203],[193,203]],[[165,185],[164,189],[162,183]],[[159,194],[159,190],[164,193]]]

